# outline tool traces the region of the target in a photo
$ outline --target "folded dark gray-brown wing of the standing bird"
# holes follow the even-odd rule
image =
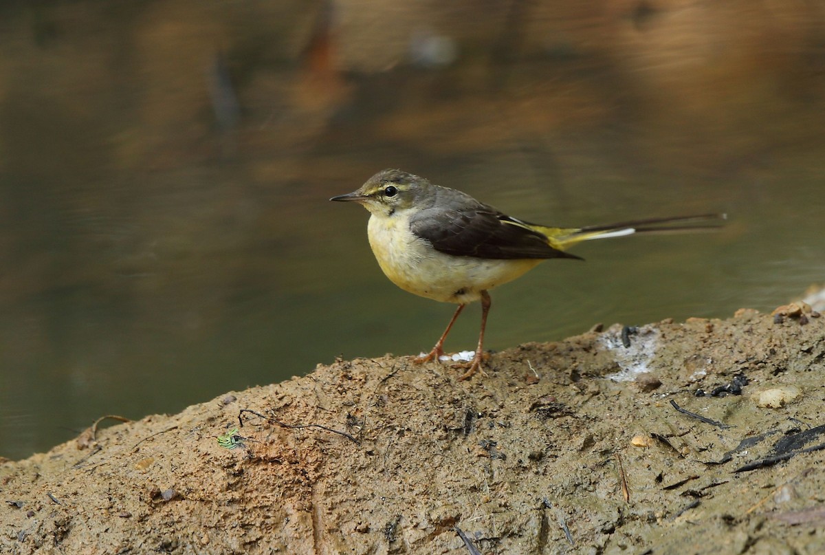
[[[577,259],[547,244],[527,224],[477,204],[460,209],[428,208],[410,220],[413,234],[446,254],[480,259]]]

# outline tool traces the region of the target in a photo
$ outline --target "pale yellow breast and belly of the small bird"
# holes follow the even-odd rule
[[[400,219],[372,216],[367,231],[375,259],[390,281],[436,301],[478,301],[482,291],[512,281],[541,262],[443,254],[413,235]]]

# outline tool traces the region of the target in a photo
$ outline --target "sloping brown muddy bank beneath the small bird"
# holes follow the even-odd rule
[[[337,361],[3,462],[0,552],[823,553],[823,338],[787,306],[467,382]]]

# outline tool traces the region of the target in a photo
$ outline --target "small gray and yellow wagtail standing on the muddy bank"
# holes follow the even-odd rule
[[[510,282],[544,259],[579,259],[564,252],[580,241],[649,231],[703,230],[696,224],[719,221],[724,214],[626,221],[566,228],[530,224],[507,216],[468,194],[439,187],[398,169],[376,173],[357,191],[331,201],[358,202],[370,211],[370,247],[389,280],[404,291],[458,305],[430,353],[416,363],[440,359],[450,328],[464,306],[481,300],[481,332],[466,379],[481,368],[484,327],[490,311],[488,291]]]

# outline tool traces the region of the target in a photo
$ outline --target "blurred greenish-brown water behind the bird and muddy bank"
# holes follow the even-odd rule
[[[823,124],[822,2],[4,2],[0,455],[429,349],[454,307],[327,201],[382,168],[549,225],[728,212],[497,289],[488,348],[771,310],[825,281]]]

